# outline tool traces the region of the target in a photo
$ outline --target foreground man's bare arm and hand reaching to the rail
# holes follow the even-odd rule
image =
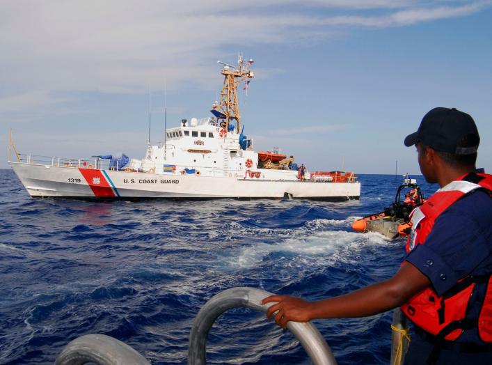
[[[267,317],[278,311],[275,321],[285,328],[289,320],[307,322],[317,318],[365,317],[382,313],[401,306],[430,284],[422,272],[405,262],[391,279],[339,297],[308,302],[288,295],[271,295],[262,300],[262,304],[277,302],[270,306]]]

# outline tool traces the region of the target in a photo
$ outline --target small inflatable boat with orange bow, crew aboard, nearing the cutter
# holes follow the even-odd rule
[[[406,176],[403,181],[403,185],[397,189],[395,201],[391,206],[385,208],[383,212],[356,219],[352,229],[361,233],[378,232],[390,239],[408,235],[412,226],[409,215],[414,208],[422,205],[425,199],[416,180]],[[401,199],[404,189],[410,190],[404,194],[404,199]]]

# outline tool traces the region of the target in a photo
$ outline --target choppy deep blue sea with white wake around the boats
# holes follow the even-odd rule
[[[415,178],[415,176],[412,176]],[[429,196],[436,185],[416,176]],[[360,201],[31,199],[0,170],[0,364],[53,364],[72,339],[116,337],[152,364],[186,364],[193,318],[235,286],[308,300],[388,279],[404,241],[355,233],[400,176],[362,175]],[[388,364],[392,313],[315,320],[338,364]],[[216,321],[209,364],[310,364],[249,309]]]

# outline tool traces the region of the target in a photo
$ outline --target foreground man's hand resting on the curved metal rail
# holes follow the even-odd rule
[[[275,322],[282,328],[287,327],[287,322],[308,322],[311,320],[311,310],[313,303],[302,300],[301,298],[289,297],[288,295],[271,295],[262,300],[262,304],[277,302],[267,311],[267,317],[271,318],[275,313]]]

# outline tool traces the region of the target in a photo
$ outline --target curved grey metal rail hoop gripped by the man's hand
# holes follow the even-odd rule
[[[269,295],[272,294],[256,288],[231,288],[214,295],[200,309],[193,322],[189,339],[188,364],[206,364],[207,337],[217,317],[228,309],[238,306],[244,306],[266,313],[269,306],[273,305],[273,303],[262,305],[260,302]],[[287,329],[301,342],[305,351],[308,352],[312,364],[337,364],[328,343],[326,343],[315,325],[310,322],[288,322]]]

